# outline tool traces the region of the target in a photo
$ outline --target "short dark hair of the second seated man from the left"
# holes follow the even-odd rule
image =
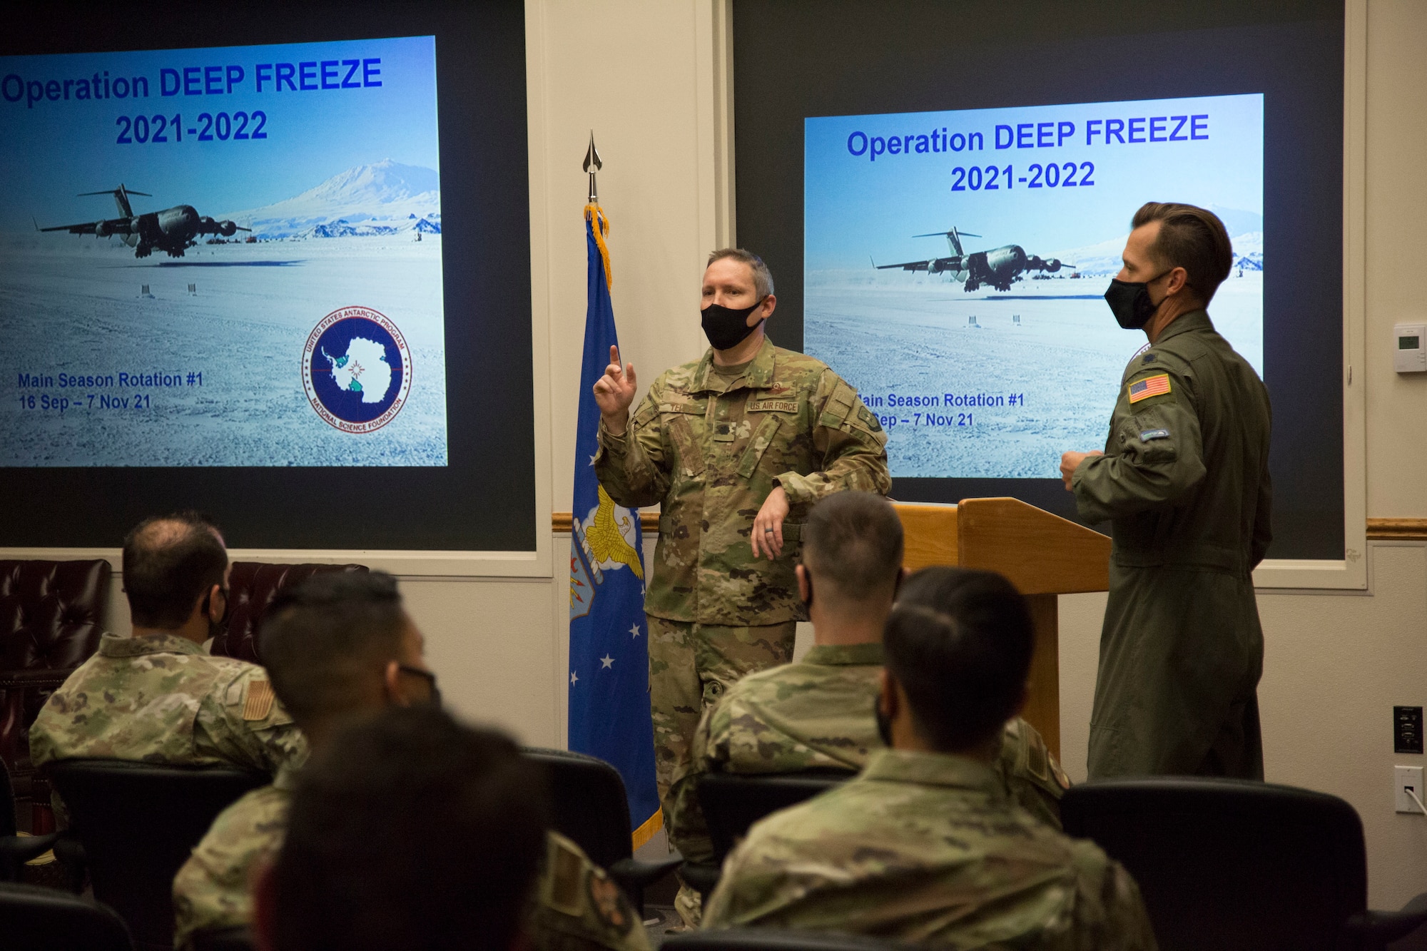
[[[407,615],[385,571],[323,571],[281,588],[258,634],[273,690],[298,724],[361,708],[362,687],[400,657]]]

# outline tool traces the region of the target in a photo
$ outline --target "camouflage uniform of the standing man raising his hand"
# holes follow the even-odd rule
[[[664,373],[624,434],[599,424],[595,473],[615,503],[659,504],[645,594],[655,773],[688,763],[704,705],[753,670],[792,658],[806,617],[793,565],[802,523],[831,493],[885,493],[886,434],[826,364],[765,340],[743,367]],[[775,485],[788,494],[783,551],[755,560],[749,534]],[[678,845],[678,842],[675,842]]]

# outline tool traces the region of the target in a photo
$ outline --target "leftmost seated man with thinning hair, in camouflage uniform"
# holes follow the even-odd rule
[[[307,740],[267,671],[203,644],[228,617],[228,551],[197,513],[140,523],[124,538],[133,634],[104,634],[30,728],[37,767],[74,757],[225,764],[277,773]]]

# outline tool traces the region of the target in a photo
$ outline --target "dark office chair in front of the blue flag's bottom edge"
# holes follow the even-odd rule
[[[642,915],[644,890],[678,868],[684,858],[678,852],[656,862],[634,857],[624,780],[604,760],[537,747],[524,753],[547,770],[555,831],[574,840],[589,861],[608,871]]]

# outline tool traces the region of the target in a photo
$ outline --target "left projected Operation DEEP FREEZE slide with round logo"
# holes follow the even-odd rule
[[[0,57],[0,467],[447,464],[434,37]]]

